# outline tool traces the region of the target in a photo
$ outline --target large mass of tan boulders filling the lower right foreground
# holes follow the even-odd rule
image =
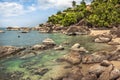
[[[73,49],[78,48],[78,43],[72,46],[70,53],[66,54],[57,61],[67,65],[56,69],[55,76],[49,76],[50,80],[120,80],[120,68],[113,61],[118,63],[120,60],[120,48],[113,52],[95,52],[93,54],[83,55],[86,51]],[[80,48],[80,47],[79,47]],[[117,64],[118,64],[117,63]],[[88,67],[86,67],[88,66]],[[59,66],[60,67],[60,66]],[[86,68],[84,68],[86,67]],[[58,68],[58,67],[57,67]],[[64,71],[63,71],[64,70]],[[50,70],[50,72],[52,72]],[[49,72],[48,72],[49,73]],[[44,76],[47,76],[46,73]],[[43,80],[47,80],[43,79]],[[41,79],[42,80],[42,79]]]

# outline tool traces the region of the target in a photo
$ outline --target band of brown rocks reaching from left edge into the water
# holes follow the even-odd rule
[[[0,46],[0,58],[10,57],[14,55],[27,58],[36,56],[40,51],[54,49],[64,50],[62,45],[56,45],[55,41],[50,38],[43,40],[42,44],[33,45],[30,47],[14,47],[14,46]]]

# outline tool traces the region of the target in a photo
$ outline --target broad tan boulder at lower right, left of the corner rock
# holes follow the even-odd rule
[[[92,74],[95,74],[97,76],[100,76],[104,72],[105,69],[106,69],[106,67],[104,67],[104,66],[93,65],[88,70],[88,73],[90,73],[90,74],[92,73]]]

